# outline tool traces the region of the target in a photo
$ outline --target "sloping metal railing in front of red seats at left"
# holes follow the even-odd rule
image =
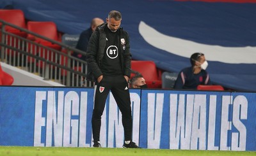
[[[10,64],[30,73],[42,76],[45,80],[61,83],[67,87],[92,87],[86,81],[87,62],[72,56],[72,52],[86,56],[86,52],[72,48],[61,42],[45,38],[35,32],[0,20],[1,62]],[[19,33],[8,32],[5,27],[12,27]],[[28,34],[47,41],[45,46],[26,38]],[[57,48],[54,48],[57,46]],[[52,48],[53,47],[53,48]]]

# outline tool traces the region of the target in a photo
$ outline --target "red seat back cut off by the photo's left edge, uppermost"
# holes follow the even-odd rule
[[[0,10],[0,19],[26,29],[26,22],[22,10]],[[10,26],[5,27],[6,31],[16,30]]]

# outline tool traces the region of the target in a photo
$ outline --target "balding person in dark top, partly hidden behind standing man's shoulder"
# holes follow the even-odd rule
[[[84,30],[83,32],[81,32],[81,34],[79,36],[79,39],[77,41],[76,48],[83,51],[83,52],[86,52],[89,39],[92,36],[92,32],[95,31],[95,29],[100,24],[103,24],[103,23],[104,23],[104,20],[102,20],[101,18],[98,18],[98,17],[93,18],[92,21],[91,21],[90,27],[88,29]],[[72,55],[74,57],[79,58],[79,59],[86,60],[86,56],[81,55],[80,53],[72,53]]]

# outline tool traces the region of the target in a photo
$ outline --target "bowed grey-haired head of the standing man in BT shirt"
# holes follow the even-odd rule
[[[108,18],[106,22],[108,23],[108,28],[112,32],[116,32],[121,25],[122,15],[119,11],[112,10],[108,13]]]

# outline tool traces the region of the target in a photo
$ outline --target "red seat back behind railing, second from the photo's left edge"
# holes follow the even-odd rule
[[[28,22],[28,30],[40,34],[46,38],[58,41],[58,31],[57,26],[54,22]],[[32,34],[28,34],[28,39],[33,39],[35,41],[41,42],[45,41],[41,38],[35,38]]]

